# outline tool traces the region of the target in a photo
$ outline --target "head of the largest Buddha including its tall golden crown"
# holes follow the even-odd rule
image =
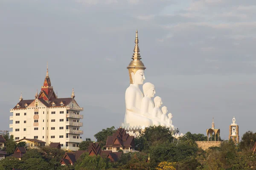
[[[132,56],[132,61],[128,65],[128,71],[130,76],[130,84],[142,85],[143,80],[145,79],[144,70],[146,69],[143,62],[140,60],[140,48],[139,48],[139,39],[138,31],[136,31],[135,37],[135,47],[134,54]]]

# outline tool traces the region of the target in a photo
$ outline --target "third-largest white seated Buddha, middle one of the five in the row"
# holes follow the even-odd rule
[[[156,96],[154,98],[154,104],[155,104],[155,107],[152,111],[152,122],[153,122],[153,125],[159,126],[160,121],[161,121],[161,115],[162,115],[162,111],[160,110],[160,106],[163,105],[161,97]]]

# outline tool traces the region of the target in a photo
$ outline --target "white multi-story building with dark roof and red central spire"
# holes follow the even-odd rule
[[[36,92],[35,99],[23,100],[10,110],[13,116],[10,120],[14,139],[38,139],[50,144],[60,142],[61,148],[66,150],[78,150],[80,137],[83,131],[80,127],[83,123],[83,115],[75,100],[74,89],[70,98],[58,98],[53,91],[50,77],[47,74],[41,92]]]

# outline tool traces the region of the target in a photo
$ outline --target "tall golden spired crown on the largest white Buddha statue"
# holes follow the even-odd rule
[[[129,75],[130,75],[130,83],[133,84],[131,73],[135,74],[137,70],[146,69],[143,62],[140,60],[141,57],[140,57],[138,30],[136,31],[134,54],[131,59],[132,61],[130,62],[127,68],[129,70]]]

